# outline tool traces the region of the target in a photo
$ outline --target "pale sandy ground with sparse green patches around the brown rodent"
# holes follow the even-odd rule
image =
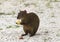
[[[35,12],[40,18],[35,36],[24,36],[23,26],[16,25],[20,10]],[[60,42],[59,0],[0,0],[0,42]]]

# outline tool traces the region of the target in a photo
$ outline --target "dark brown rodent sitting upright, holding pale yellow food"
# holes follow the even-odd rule
[[[22,36],[25,36],[28,33],[30,34],[30,37],[35,35],[39,27],[39,18],[35,13],[27,13],[26,10],[20,11],[17,19],[16,24],[23,25],[25,34],[22,34]]]

